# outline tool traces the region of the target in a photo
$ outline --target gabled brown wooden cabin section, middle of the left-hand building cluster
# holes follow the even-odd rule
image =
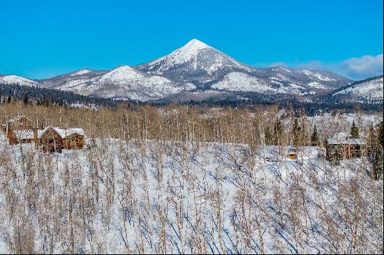
[[[44,130],[38,130],[38,142],[36,147],[41,148],[43,152],[61,153],[64,148],[63,139],[65,131],[59,127],[45,127]]]

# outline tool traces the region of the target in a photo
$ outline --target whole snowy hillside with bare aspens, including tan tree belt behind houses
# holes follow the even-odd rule
[[[22,101],[0,111],[1,123],[22,114],[86,134],[62,153],[0,137],[1,253],[383,253],[382,164],[365,149],[325,158],[340,134],[382,153],[382,113]]]

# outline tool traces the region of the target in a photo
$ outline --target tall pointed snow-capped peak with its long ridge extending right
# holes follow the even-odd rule
[[[207,82],[215,84],[220,82],[223,77],[228,79],[226,75],[230,73],[242,73],[243,75],[239,76],[254,77],[259,83],[263,80],[263,84],[268,87],[278,84],[285,87],[285,89],[282,88],[283,91],[290,91],[290,84],[296,84],[307,88],[306,93],[310,93],[311,88],[334,89],[350,82],[348,79],[332,72],[295,70],[285,67],[251,67],[196,39],[191,40],[167,56],[138,65],[138,69],[163,75],[177,82],[191,82],[196,86]],[[230,76],[233,78],[233,75]],[[232,83],[235,82],[235,79],[232,80]],[[244,88],[244,91],[247,91],[247,86],[244,87],[242,84],[233,85],[240,90]],[[280,90],[277,89],[276,93],[280,93]]]

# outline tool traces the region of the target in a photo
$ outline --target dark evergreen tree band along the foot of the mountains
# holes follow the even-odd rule
[[[70,91],[58,91],[37,86],[20,86],[19,84],[0,84],[0,103],[24,101],[27,96],[29,103],[35,105],[60,105],[66,106],[74,103],[83,105],[98,105],[103,107],[112,107],[116,109],[121,104],[129,103],[131,105],[144,105],[135,100],[123,101],[113,100],[111,98],[98,98],[94,96],[78,95]],[[227,98],[228,97],[228,98]],[[239,98],[249,98],[249,100],[239,100]],[[195,107],[231,107],[248,108],[255,110],[258,107],[274,107],[279,109],[294,109],[297,113],[306,111],[309,116],[320,114],[321,112],[332,112],[344,110],[346,113],[352,113],[356,107],[362,111],[372,112],[381,111],[383,104],[366,104],[360,102],[334,102],[332,98],[322,98],[315,102],[301,102],[290,95],[263,95],[260,93],[230,92],[225,99],[209,98],[208,100],[186,100],[183,102],[172,102],[171,100],[154,100],[147,102],[149,105],[165,107],[166,105],[188,105]]]

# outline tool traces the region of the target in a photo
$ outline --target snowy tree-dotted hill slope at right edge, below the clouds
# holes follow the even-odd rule
[[[355,100],[383,102],[383,75],[366,81],[355,82],[333,95],[347,95]]]

